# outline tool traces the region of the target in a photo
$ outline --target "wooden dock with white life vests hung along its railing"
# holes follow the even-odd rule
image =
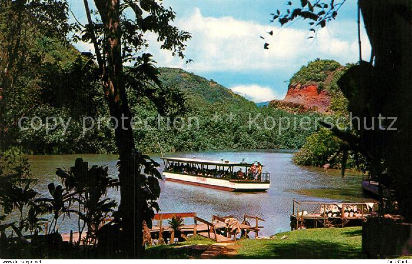
[[[377,203],[302,202],[293,199],[290,228],[361,226],[377,210]]]

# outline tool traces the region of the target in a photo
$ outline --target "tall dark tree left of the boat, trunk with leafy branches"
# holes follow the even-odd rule
[[[93,10],[84,0],[87,25],[77,25],[83,41],[94,45],[100,82],[110,116],[121,122],[115,129],[115,140],[119,152],[120,206],[119,213],[123,228],[123,250],[126,257],[139,257],[142,252],[143,220],[151,227],[153,209],[159,210],[155,200],[160,188],[157,178],[162,178],[154,161],[135,151],[132,113],[126,90],[138,96],[147,96],[158,107],[159,112],[178,113],[183,110],[183,96],[178,91],[162,86],[153,65],[151,54],[140,54],[148,47],[145,32],[158,35],[161,49],[170,50],[173,55],[184,58],[185,40],[190,34],[170,24],[176,14],[154,0],[94,0],[98,20],[93,21]],[[126,13],[129,12],[129,15]],[[134,14],[131,18],[130,12]],[[125,68],[123,63],[134,62]],[[172,100],[169,100],[172,99]],[[144,173],[140,173],[142,166]],[[149,176],[147,176],[149,175]]]

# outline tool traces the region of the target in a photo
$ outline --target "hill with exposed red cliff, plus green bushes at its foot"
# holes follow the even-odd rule
[[[334,122],[345,127],[349,124],[348,100],[337,85],[337,80],[351,67],[336,61],[316,59],[296,72],[290,79],[285,99],[271,102],[271,106],[287,111],[316,111],[327,114]],[[356,131],[353,131],[356,133]],[[326,128],[311,134],[293,160],[299,165],[340,168],[342,140]],[[358,159],[358,165],[362,162]],[[362,165],[362,164],[361,164]],[[356,167],[354,154],[349,152],[347,168]]]

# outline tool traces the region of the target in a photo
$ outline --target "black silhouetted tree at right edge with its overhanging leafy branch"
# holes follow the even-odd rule
[[[337,17],[345,2],[301,0],[299,7],[288,9],[285,14],[277,10],[272,14],[273,21],[284,25],[298,18],[308,19],[310,31],[316,33]],[[358,0],[358,10],[358,20],[362,14],[372,54],[369,61],[360,60],[359,65],[351,67],[338,84],[349,100],[348,110],[360,118],[352,121],[353,127],[360,126],[357,136],[333,131],[344,140],[345,150],[359,152],[370,161],[372,175],[393,178],[400,213],[412,221],[411,2]],[[382,126],[377,121],[379,116],[385,117]],[[369,127],[372,118],[376,119],[373,129],[366,129],[363,120],[368,120]]]

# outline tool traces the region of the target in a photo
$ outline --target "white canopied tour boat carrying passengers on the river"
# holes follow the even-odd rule
[[[178,157],[162,159],[166,180],[231,192],[264,192],[270,187],[270,173],[253,173],[250,163]]]

